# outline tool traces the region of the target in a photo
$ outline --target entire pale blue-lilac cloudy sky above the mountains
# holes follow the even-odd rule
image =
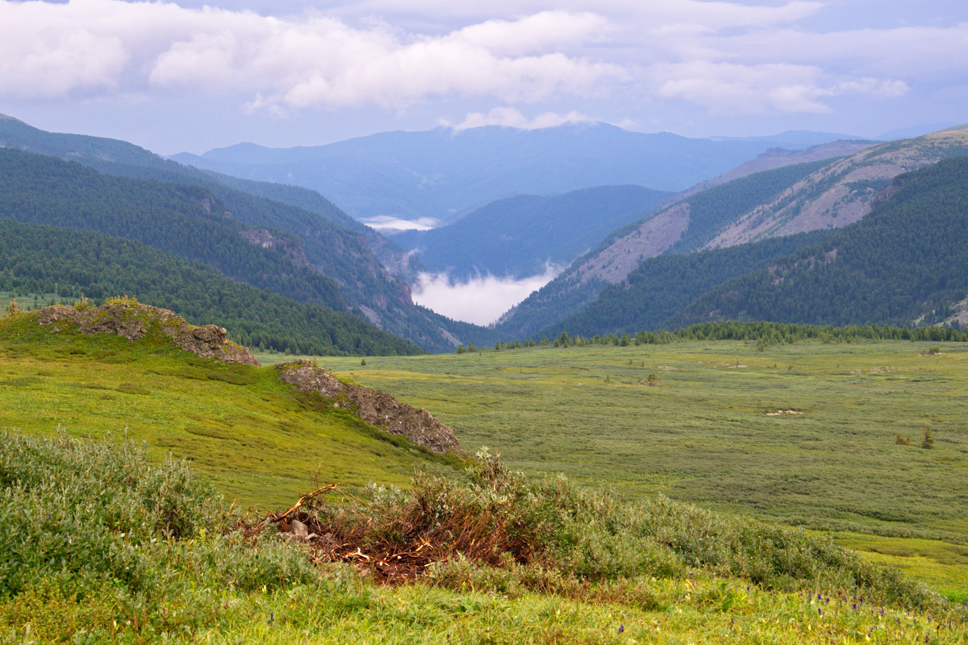
[[[0,112],[162,154],[441,124],[968,121],[965,0],[0,0]]]

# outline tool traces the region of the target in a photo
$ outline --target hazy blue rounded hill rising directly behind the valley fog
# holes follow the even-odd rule
[[[434,272],[540,275],[598,245],[612,230],[654,210],[668,192],[601,186],[554,197],[518,195],[483,206],[447,226],[405,231],[394,241],[413,249]]]

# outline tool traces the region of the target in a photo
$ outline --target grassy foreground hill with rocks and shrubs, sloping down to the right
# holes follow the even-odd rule
[[[275,367],[202,359],[150,324],[129,342],[40,315],[0,320],[13,642],[966,636],[962,609],[829,538],[529,479],[486,453],[455,470]]]

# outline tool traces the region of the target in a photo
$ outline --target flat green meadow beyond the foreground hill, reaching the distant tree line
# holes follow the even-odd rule
[[[932,346],[702,340],[325,364],[528,474],[832,531],[964,600],[968,347]],[[660,385],[638,385],[650,373]]]

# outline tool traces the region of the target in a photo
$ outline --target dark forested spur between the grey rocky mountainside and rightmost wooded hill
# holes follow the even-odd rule
[[[561,332],[595,334],[656,331],[669,318],[728,279],[764,268],[777,256],[813,246],[832,231],[799,233],[729,249],[666,253],[650,257],[618,284],[610,284],[587,308],[539,331],[535,337]],[[668,328],[667,328],[668,329]]]

